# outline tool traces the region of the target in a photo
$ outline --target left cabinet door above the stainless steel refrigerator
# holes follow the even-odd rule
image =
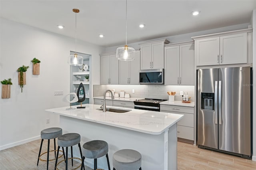
[[[196,40],[196,65],[220,64],[220,38]]]

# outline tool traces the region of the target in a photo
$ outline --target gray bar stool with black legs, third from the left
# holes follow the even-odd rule
[[[86,142],[83,145],[84,149],[84,156],[82,160],[82,165],[84,165],[84,159],[90,158],[94,159],[94,170],[97,169],[97,158],[100,158],[106,155],[107,162],[108,162],[108,170],[110,170],[110,164],[108,160],[108,143],[103,140],[92,140]],[[82,167],[81,167],[82,170]]]

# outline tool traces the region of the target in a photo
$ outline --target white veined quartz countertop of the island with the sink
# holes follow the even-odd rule
[[[72,107],[76,108],[77,106]],[[126,109],[122,107],[111,108],[119,108],[130,111],[126,113],[114,113],[107,111],[104,113],[103,111],[96,110],[100,108],[100,105],[84,104],[83,106],[86,106],[86,108],[66,110],[66,108],[68,108],[67,106],[55,109],[47,109],[46,111],[52,112],[57,115],[72,117],[76,119],[148,134],[161,134],[165,130],[168,130],[169,127],[175,125],[175,123],[180,121],[182,117],[184,117],[184,115],[175,113],[146,111],[140,109]]]

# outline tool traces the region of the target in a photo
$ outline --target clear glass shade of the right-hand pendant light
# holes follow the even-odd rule
[[[134,60],[135,49],[125,45],[124,47],[118,47],[116,49],[116,57],[122,61],[132,61]]]

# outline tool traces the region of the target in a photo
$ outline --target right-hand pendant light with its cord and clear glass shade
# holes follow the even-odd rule
[[[116,58],[122,61],[134,60],[135,49],[128,47],[127,45],[127,0],[126,0],[126,31],[125,31],[125,43],[124,47],[118,47],[116,49]]]

